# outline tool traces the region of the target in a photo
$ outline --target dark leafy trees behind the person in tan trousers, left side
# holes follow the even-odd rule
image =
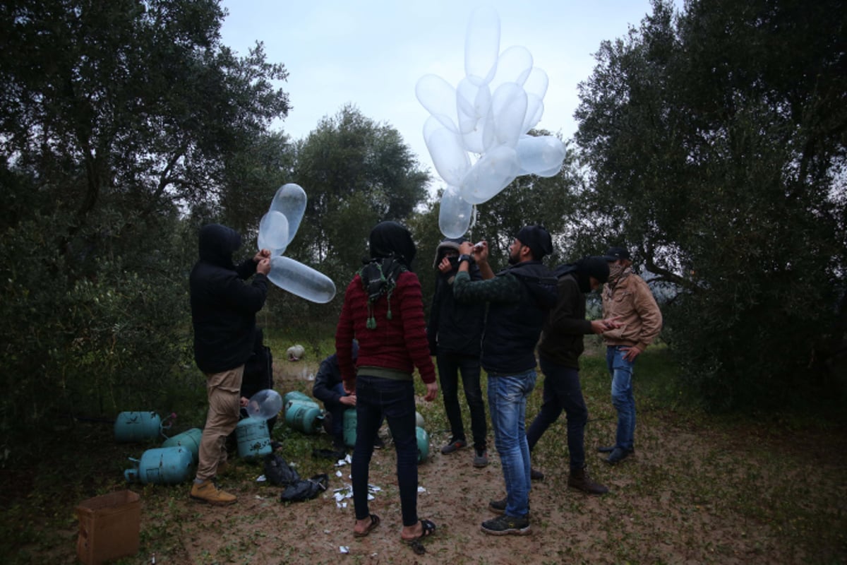
[[[290,169],[285,136],[265,135],[288,110],[272,84],[285,68],[261,45],[221,46],[216,0],[14,0],[0,15],[15,53],[0,61],[3,441],[191,410],[197,227],[257,224],[246,209]]]

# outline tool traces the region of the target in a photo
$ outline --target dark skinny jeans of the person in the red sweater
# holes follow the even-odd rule
[[[418,523],[418,437],[415,435],[415,389],[411,380],[356,378],[356,446],[351,473],[356,519],[368,518],[368,472],[374,437],[388,420],[397,450],[397,485],[404,526]]]

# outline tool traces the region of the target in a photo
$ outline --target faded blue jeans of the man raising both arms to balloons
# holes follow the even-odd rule
[[[488,379],[494,445],[506,482],[506,514],[516,518],[529,514],[529,444],[524,422],[535,377],[533,369],[523,374],[489,375]]]

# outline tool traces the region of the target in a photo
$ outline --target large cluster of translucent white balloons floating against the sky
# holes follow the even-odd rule
[[[465,77],[454,87],[438,75],[424,75],[415,86],[430,114],[424,141],[447,183],[438,222],[447,237],[463,235],[473,205],[495,197],[519,175],[550,177],[562,170],[562,141],[527,135],[544,113],[548,85],[547,74],[533,64],[526,47],[500,53],[500,18],[478,8],[465,37]]]

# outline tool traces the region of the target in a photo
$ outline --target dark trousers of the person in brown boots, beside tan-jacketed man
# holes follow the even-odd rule
[[[529,450],[545,430],[565,411],[567,416],[567,451],[570,455],[572,470],[585,466],[585,424],[588,422],[588,407],[579,385],[579,371],[540,358],[541,371],[544,373],[544,396],[541,409],[527,430]]]

